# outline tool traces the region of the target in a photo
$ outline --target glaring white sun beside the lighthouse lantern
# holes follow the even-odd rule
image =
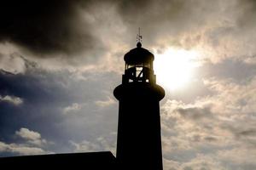
[[[189,85],[195,67],[196,51],[168,48],[163,54],[155,55],[154,73],[157,82],[170,90]]]

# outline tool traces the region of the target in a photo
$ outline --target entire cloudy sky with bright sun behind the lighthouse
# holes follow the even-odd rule
[[[0,156],[111,150],[124,54],[154,53],[165,170],[256,169],[256,2],[0,6]]]

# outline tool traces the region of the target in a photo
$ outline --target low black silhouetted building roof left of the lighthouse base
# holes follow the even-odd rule
[[[115,169],[115,157],[110,151],[52,154],[43,156],[15,156],[0,158],[1,169]]]

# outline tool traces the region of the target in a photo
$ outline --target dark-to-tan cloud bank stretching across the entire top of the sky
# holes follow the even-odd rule
[[[45,67],[76,68],[102,59],[112,67],[116,55],[135,46],[137,27],[143,26],[148,48],[195,48],[212,62],[248,60],[255,55],[254,7],[239,0],[11,0],[2,4],[0,41]]]

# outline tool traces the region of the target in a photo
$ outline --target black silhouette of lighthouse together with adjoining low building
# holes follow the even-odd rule
[[[139,41],[124,59],[122,83],[113,91],[119,100],[116,157],[110,151],[3,157],[0,167],[162,170],[159,102],[165,91],[155,82],[154,54]]]

